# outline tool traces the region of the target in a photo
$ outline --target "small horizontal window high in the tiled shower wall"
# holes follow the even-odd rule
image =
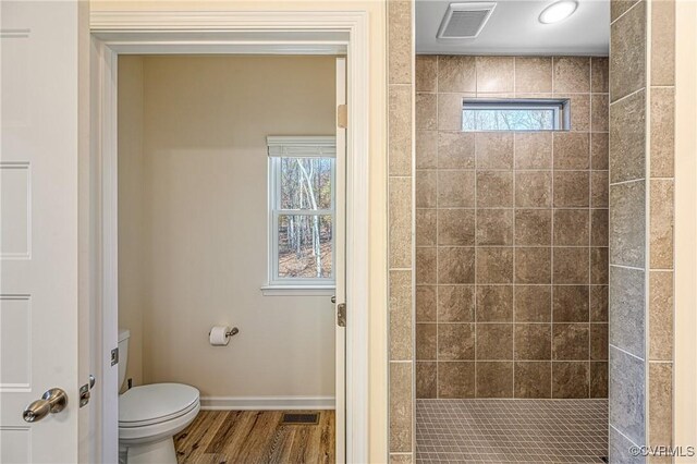
[[[462,130],[565,131],[570,119],[566,99],[464,99]]]

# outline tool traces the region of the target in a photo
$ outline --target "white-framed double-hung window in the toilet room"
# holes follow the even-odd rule
[[[269,288],[334,285],[335,138],[269,136]]]

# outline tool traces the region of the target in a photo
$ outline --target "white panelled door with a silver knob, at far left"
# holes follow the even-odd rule
[[[0,462],[78,456],[76,0],[0,2]],[[68,395],[61,412],[37,403]],[[58,407],[59,408],[59,407]]]

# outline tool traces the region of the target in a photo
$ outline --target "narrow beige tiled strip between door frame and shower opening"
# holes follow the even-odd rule
[[[414,461],[414,1],[388,0],[389,453]]]

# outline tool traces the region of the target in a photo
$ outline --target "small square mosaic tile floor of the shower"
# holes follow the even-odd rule
[[[418,463],[602,463],[608,400],[417,400]]]

